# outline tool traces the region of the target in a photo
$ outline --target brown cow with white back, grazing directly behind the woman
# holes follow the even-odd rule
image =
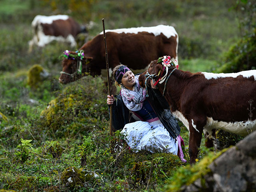
[[[152,60],[163,54],[168,54],[178,61],[178,34],[172,26],[106,30],[106,43],[110,69],[120,63],[133,70],[144,69]],[[85,55],[82,73],[90,72],[95,76],[101,74],[101,69],[106,69],[103,32],[86,42],[79,50],[84,50]],[[92,60],[85,64],[88,57]],[[66,84],[79,78],[76,76],[77,63],[77,60],[73,59],[62,61],[63,68],[59,78],[61,83]]]

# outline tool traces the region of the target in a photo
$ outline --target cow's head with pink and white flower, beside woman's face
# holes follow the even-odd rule
[[[156,83],[164,81],[168,68],[175,68],[175,64],[170,60],[170,56],[160,57],[158,60],[152,61],[148,70],[139,76],[140,86],[145,87],[145,81],[147,81],[147,85],[150,85],[151,79],[154,79]],[[178,68],[178,65],[176,68]]]

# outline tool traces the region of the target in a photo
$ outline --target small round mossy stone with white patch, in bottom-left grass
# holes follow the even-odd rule
[[[71,190],[84,186],[85,172],[76,167],[66,168],[60,176],[61,184],[68,186]]]

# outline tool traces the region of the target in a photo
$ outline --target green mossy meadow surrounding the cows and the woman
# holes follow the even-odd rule
[[[177,170],[188,166],[172,154],[133,153],[118,131],[110,137],[104,75],[60,84],[59,56],[72,48],[52,42],[29,53],[34,16],[68,14],[80,24],[92,21],[86,40],[102,31],[102,18],[106,29],[174,26],[179,34],[179,68],[214,72],[244,35],[243,3],[1,0],[0,192],[165,191]],[[50,75],[29,84],[28,73],[35,64]],[[181,122],[179,125],[189,161],[188,130]],[[209,153],[202,137],[199,162]]]

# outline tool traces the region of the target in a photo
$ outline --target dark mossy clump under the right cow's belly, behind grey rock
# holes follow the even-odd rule
[[[216,131],[217,148],[219,150],[222,150],[223,148],[228,148],[230,146],[234,146],[243,138],[244,136],[229,133],[220,129]]]

